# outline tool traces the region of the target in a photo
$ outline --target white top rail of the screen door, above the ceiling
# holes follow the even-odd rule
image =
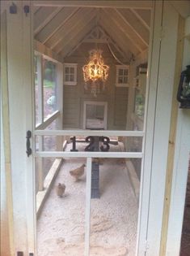
[[[33,1],[36,7],[95,7],[95,8],[136,8],[148,9],[153,7],[154,1]]]

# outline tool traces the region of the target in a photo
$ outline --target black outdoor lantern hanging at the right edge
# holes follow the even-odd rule
[[[181,72],[177,100],[180,102],[180,108],[190,109],[190,65]]]

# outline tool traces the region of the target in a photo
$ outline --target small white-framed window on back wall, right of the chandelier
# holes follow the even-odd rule
[[[129,86],[129,66],[116,66],[116,86]]]

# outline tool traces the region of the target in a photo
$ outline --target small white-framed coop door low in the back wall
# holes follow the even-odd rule
[[[83,128],[107,129],[107,102],[84,102]]]

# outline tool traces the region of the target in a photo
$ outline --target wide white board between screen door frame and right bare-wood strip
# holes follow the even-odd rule
[[[175,77],[175,54],[178,40],[178,13],[171,7],[169,2],[163,2],[163,9],[161,11],[163,13],[161,26],[167,33],[163,34],[160,41],[159,65],[158,72],[156,72],[158,80],[152,145],[153,157],[150,160],[151,182],[147,232],[149,248],[146,251],[146,256],[158,255],[160,248],[168,141],[171,124],[172,91]],[[168,50],[170,50],[170,54],[168,54]],[[159,193],[157,193],[158,191]]]

